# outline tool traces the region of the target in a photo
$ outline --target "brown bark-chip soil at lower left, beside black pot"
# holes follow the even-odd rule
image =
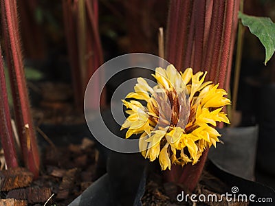
[[[48,147],[41,158],[39,179],[27,187],[2,191],[1,198],[27,200],[28,205],[68,205],[98,178],[96,165],[98,150],[90,139],[82,144],[66,147]]]

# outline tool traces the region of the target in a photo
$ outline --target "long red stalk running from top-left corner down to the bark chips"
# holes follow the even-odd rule
[[[19,23],[17,19],[17,2],[15,0],[1,0],[1,16],[5,41],[4,49],[10,73],[15,120],[17,130],[19,131],[23,161],[25,166],[34,173],[34,177],[37,177],[39,175],[40,159],[32,117],[30,115],[28,90],[23,71]],[[27,124],[29,125],[28,135],[26,135],[25,130],[25,125]]]

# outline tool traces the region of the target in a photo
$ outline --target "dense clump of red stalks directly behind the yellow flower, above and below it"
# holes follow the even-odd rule
[[[191,8],[192,2],[194,5]],[[219,82],[220,87],[228,87],[237,10],[239,0],[170,1],[167,60],[177,69],[195,67],[194,72],[208,70],[208,79]],[[203,152],[199,163],[188,163],[183,170],[173,165],[170,172],[166,172],[166,180],[181,183],[192,192],[199,181],[207,155],[208,149]]]

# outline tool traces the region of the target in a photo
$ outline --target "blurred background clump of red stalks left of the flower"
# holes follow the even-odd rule
[[[79,110],[83,108],[83,98],[87,82],[94,71],[103,63],[102,46],[98,31],[98,1],[63,0],[63,18],[67,49],[74,85],[74,98]],[[99,85],[100,80],[98,80]],[[100,93],[94,89],[91,109],[98,107]],[[104,92],[101,95],[102,105],[105,104]]]

